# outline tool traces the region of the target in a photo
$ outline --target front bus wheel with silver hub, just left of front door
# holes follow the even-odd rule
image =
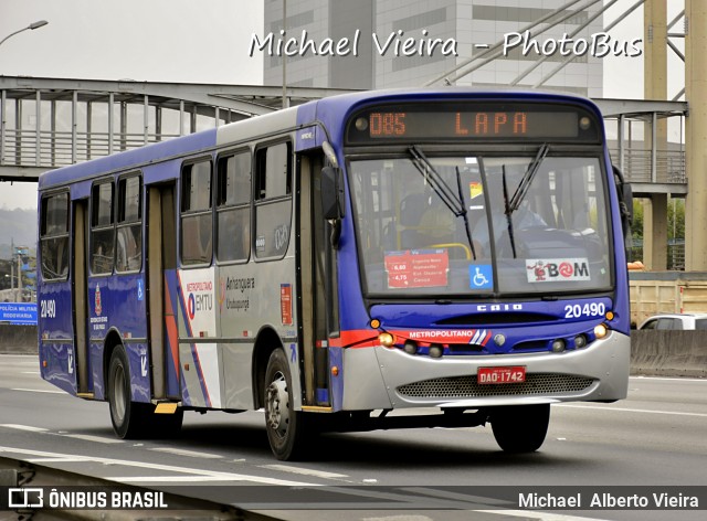
[[[294,410],[292,375],[282,349],[270,355],[263,385],[265,429],[270,447],[277,459],[295,460],[305,454],[304,413]]]

